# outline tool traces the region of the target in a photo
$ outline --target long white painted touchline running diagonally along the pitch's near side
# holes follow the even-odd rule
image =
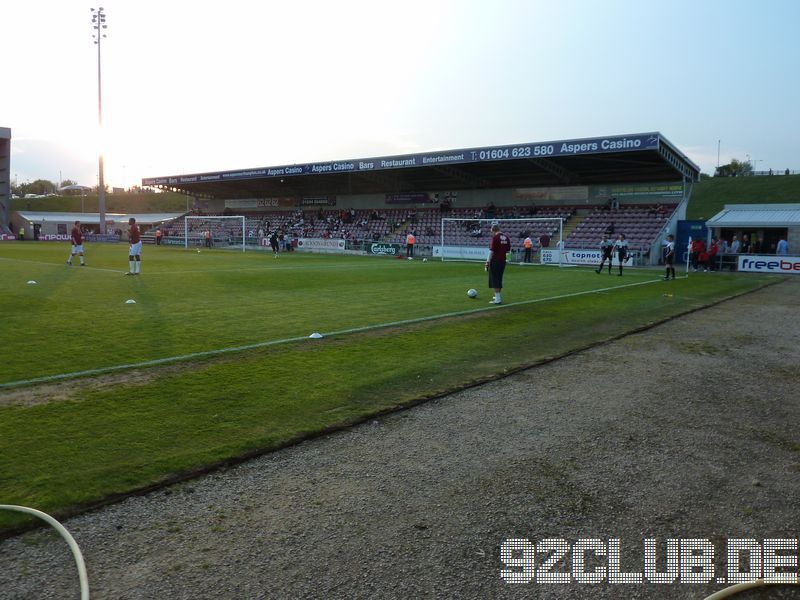
[[[686,276],[681,276],[678,279],[686,279]],[[500,310],[503,308],[511,308],[514,306],[526,306],[528,304],[539,304],[542,302],[550,302],[552,300],[563,300],[565,298],[575,298],[577,296],[588,296],[589,294],[598,294],[609,292],[612,290],[619,290],[630,287],[638,287],[641,285],[650,285],[652,283],[663,282],[661,278],[652,279],[647,281],[638,281],[635,283],[625,283],[622,285],[614,285],[610,287],[584,290],[580,292],[570,292],[569,294],[559,294],[557,296],[548,296],[546,298],[534,298],[531,300],[520,300],[519,302],[510,302],[508,304],[489,305],[481,308],[472,308],[469,310],[458,310],[449,313],[441,313],[438,315],[429,315],[427,317],[415,317],[413,319],[402,319],[400,321],[389,321],[387,323],[377,323],[374,325],[365,325],[363,327],[351,327],[349,329],[338,329],[335,331],[321,332],[323,337],[329,338],[333,336],[349,335],[353,333],[364,333],[367,331],[374,331],[376,329],[386,329],[388,327],[398,327],[400,325],[413,325],[415,323],[425,323],[427,321],[436,321],[438,319],[447,319],[451,317],[462,317],[476,313],[487,311]],[[168,356],[165,358],[155,358],[152,360],[145,360],[137,363],[126,363],[122,365],[113,365],[110,367],[99,367],[97,369],[86,369],[84,371],[73,371],[71,373],[59,373],[57,375],[44,375],[42,377],[33,377],[31,379],[20,379],[18,381],[9,381],[7,383],[0,383],[0,390],[13,389],[28,385],[36,385],[40,383],[51,383],[54,381],[62,381],[64,379],[75,379],[78,377],[88,377],[94,375],[106,375],[108,373],[115,373],[117,371],[127,371],[130,369],[142,369],[147,367],[155,367],[159,365],[166,365],[177,362],[185,362],[198,358],[209,358],[213,356],[221,356],[223,354],[230,354],[233,352],[244,352],[247,350],[257,350],[259,348],[268,348],[270,346],[279,346],[282,344],[290,344],[293,342],[308,341],[307,335],[288,337],[279,340],[269,340],[266,342],[257,342],[255,344],[245,344],[242,346],[231,346],[229,348],[217,348],[216,350],[202,350],[200,352],[190,352],[188,354],[179,354],[177,356]]]

